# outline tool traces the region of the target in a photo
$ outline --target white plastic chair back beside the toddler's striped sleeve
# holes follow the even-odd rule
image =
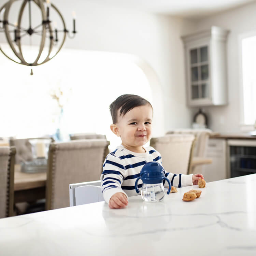
[[[69,184],[70,206],[104,201],[101,181]]]

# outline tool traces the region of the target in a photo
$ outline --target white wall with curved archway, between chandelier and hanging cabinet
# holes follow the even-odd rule
[[[4,2],[0,0],[0,6]],[[85,0],[65,4],[53,0],[52,3],[59,8],[70,30],[71,11],[76,11],[78,33],[75,39],[67,38],[66,48],[129,53],[140,57],[155,70],[161,85],[152,86],[157,123],[155,136],[171,128],[190,127],[192,115],[186,106],[180,36],[185,31],[191,32],[192,22]],[[75,63],[70,61],[67,65]]]

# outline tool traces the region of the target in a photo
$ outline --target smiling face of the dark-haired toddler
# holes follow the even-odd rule
[[[138,106],[119,117],[117,136],[128,150],[142,152],[142,146],[152,137],[153,110],[150,105]],[[144,151],[143,151],[144,152]]]

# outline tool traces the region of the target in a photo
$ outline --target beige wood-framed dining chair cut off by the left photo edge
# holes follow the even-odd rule
[[[13,216],[15,147],[0,146],[0,218]]]

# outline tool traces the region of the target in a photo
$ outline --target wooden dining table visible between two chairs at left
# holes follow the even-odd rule
[[[14,166],[14,203],[45,198],[46,172],[26,173],[21,165]]]

